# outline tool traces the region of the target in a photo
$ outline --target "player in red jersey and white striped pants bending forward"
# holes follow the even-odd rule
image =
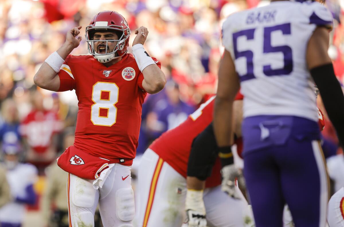
[[[189,226],[193,226],[191,222],[201,222],[199,226],[205,227],[206,220],[208,226],[243,227],[245,222],[252,226],[253,216],[239,189],[236,188],[236,195],[241,200],[221,191],[220,162],[216,156],[211,155],[206,165],[196,170],[205,175],[202,180],[205,180],[206,189],[186,189],[190,151],[200,142],[197,135],[201,133],[209,137],[202,138],[205,152],[212,153],[217,149],[214,134],[208,133],[213,128],[214,98],[202,104],[178,127],[163,133],[144,152],[138,171],[138,227],[181,226],[184,207],[188,210]]]

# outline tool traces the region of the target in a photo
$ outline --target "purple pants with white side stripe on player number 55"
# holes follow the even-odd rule
[[[325,226],[328,183],[318,124],[294,116],[247,117],[243,138],[256,227],[282,227],[286,203],[296,227]]]

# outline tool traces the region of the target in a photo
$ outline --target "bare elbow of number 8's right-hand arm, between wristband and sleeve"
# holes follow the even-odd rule
[[[161,91],[166,84],[165,74],[161,69],[153,64],[149,65],[142,71],[144,80],[142,86],[150,94],[158,93]]]

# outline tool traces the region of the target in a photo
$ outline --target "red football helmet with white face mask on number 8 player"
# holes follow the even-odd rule
[[[118,40],[93,40],[94,33],[97,30],[114,31],[118,34]],[[95,15],[89,25],[86,27],[86,42],[88,43],[88,52],[101,63],[107,63],[112,59],[122,57],[128,52],[130,29],[126,19],[115,11],[101,11]],[[94,49],[95,42],[106,42],[105,54],[98,54]],[[117,45],[112,52],[107,53],[108,42],[117,41]]]

